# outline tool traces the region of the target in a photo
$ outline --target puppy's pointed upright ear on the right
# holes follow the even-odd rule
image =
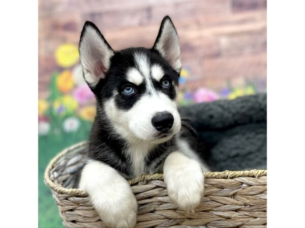
[[[153,49],[157,50],[173,69],[180,73],[179,39],[175,26],[169,16],[165,16],[161,22]]]

